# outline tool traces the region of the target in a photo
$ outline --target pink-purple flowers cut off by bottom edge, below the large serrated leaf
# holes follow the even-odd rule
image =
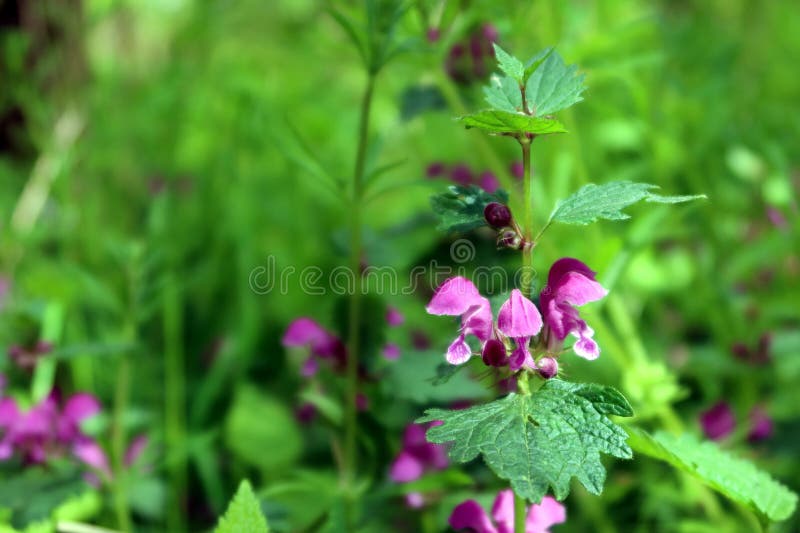
[[[553,497],[545,496],[541,503],[528,508],[525,533],[549,533],[550,526],[567,519],[567,511]],[[475,500],[467,500],[453,509],[450,527],[455,530],[470,529],[473,533],[514,533],[514,493],[500,491],[492,506],[492,517]]]

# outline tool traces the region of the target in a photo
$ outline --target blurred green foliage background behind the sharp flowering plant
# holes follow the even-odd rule
[[[321,530],[336,516],[329,437],[341,406],[301,380],[297,354],[280,343],[297,316],[335,331],[343,314],[330,292],[301,290],[299,277],[307,266],[345,264],[349,247],[341,183],[352,173],[365,74],[326,6],[3,2],[5,394],[30,404],[53,386],[91,392],[103,414],[87,431],[104,447],[118,452],[136,434],[150,442],[149,466],[110,488],[80,482],[74,465],[3,463],[7,527],[48,531],[59,517],[117,527],[121,498],[137,530],[197,531],[213,525],[242,477],[275,531]],[[335,7],[358,14],[361,4]],[[451,261],[454,237],[433,229],[428,203],[447,181],[428,179],[430,164],[491,171],[512,196],[518,187],[514,143],[452,120],[482,105],[493,63],[470,75],[445,66],[486,24],[507,50],[527,57],[556,45],[587,75],[585,102],[560,117],[570,133],[534,143],[540,222],[590,182],[709,196],[633,208],[624,223],[549,230],[540,272],[574,256],[612,289],[587,319],[603,357],[570,358],[568,377],[620,387],[651,427],[700,432],[698,414],[725,401],[737,425],[723,445],[800,489],[800,4],[412,2],[396,31],[402,51],[377,80],[364,216],[365,264],[398,269],[401,286],[415,266]],[[474,259],[454,266],[516,267],[490,234],[469,238]],[[285,287],[254,290],[254,269],[273,260],[295,269]],[[373,318],[386,305],[406,316],[401,328],[368,326],[375,346],[401,348],[395,363],[368,350],[383,376],[367,385],[360,415],[375,531],[444,531],[455,503],[481,490],[490,501],[495,483],[479,465],[412,488],[387,481],[402,428],[423,407],[486,394],[466,378],[428,386],[451,333],[424,314],[429,285],[377,294],[371,308]],[[52,349],[32,370],[6,355],[39,340]],[[331,378],[328,390],[336,386]],[[295,411],[304,402],[323,416],[303,422]],[[774,431],[752,443],[755,406]],[[574,487],[559,531],[752,530],[746,513],[662,465],[609,466],[602,498]],[[25,501],[12,498],[20,490]],[[436,497],[408,512],[400,494],[411,490]],[[798,527],[795,518],[776,530]]]

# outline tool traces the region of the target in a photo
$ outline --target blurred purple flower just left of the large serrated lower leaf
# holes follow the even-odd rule
[[[425,439],[425,430],[441,424],[439,421],[428,425],[409,424],[403,433],[403,449],[395,457],[389,477],[395,483],[408,483],[422,477],[431,470],[447,468],[447,451],[440,444],[431,444]]]

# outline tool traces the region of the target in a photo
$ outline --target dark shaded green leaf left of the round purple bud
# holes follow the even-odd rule
[[[508,203],[503,190],[488,193],[475,185],[451,185],[447,192],[431,196],[431,207],[439,218],[438,229],[463,233],[486,225],[483,210],[491,202]]]

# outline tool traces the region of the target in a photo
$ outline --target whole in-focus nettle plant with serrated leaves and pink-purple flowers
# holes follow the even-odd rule
[[[663,460],[752,510],[762,527],[788,518],[796,495],[752,464],[732,457],[715,444],[691,435],[648,433],[617,421],[634,416],[616,389],[561,378],[561,360],[576,356],[595,360],[601,347],[578,307],[601,300],[606,289],[584,260],[562,258],[549,267],[546,285],[532,292],[536,248],[552,224],[586,225],[624,220],[623,209],[639,201],[675,204],[701,196],[662,196],[655,185],[615,181],[586,185],[559,202],[541,228],[534,224],[531,147],[543,135],[566,133],[553,115],[582,100],[584,76],[567,66],[553,49],[527,63],[495,45],[501,73],[484,88],[489,108],[460,118],[467,128],[516,140],[524,166],[522,213],[512,214],[504,191],[489,194],[478,187],[451,186],[432,199],[440,228],[463,232],[488,225],[497,230],[498,247],[518,250],[523,266],[519,287],[502,296],[496,316],[492,301],[464,277],[446,280],[427,311],[460,317],[447,362],[465,365],[480,357],[509,380],[516,391],[488,403],[460,410],[429,409],[417,420],[429,424],[427,440],[449,444],[449,457],[468,462],[481,456],[513,490],[502,492],[493,509],[497,527],[474,501],[458,506],[450,517],[455,529],[481,533],[544,531],[564,520],[556,500],[570,492],[573,477],[593,494],[606,478],[601,454],[632,459],[634,450]],[[537,265],[540,266],[540,265]],[[497,300],[495,295],[492,300]],[[574,339],[574,342],[571,340]],[[447,374],[452,375],[455,369]],[[526,511],[528,503],[532,503]]]

